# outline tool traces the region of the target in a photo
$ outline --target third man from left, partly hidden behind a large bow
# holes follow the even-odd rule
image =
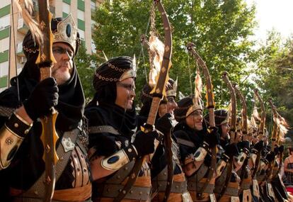
[[[174,125],[173,111],[177,108],[176,99],[177,91],[177,81],[174,82],[173,79],[169,79],[166,84],[166,98],[163,99],[159,106],[159,111],[156,115],[155,127],[164,134],[164,138],[167,135],[171,135],[171,130]],[[141,100],[143,103],[142,109],[139,112],[139,122],[146,123],[146,119],[149,116],[149,110],[151,108],[152,97],[149,94],[151,92],[151,87],[149,84],[144,86],[142,89]],[[171,138],[171,137],[170,137]],[[167,151],[173,153],[173,155],[168,157]],[[187,190],[187,181],[180,167],[180,162],[178,159],[178,146],[173,142],[171,138],[171,147],[166,145],[166,141],[157,147],[154,157],[151,159],[151,184],[152,184],[152,200],[151,201],[163,201],[166,197],[167,184],[171,184],[171,190],[168,201],[192,201],[190,194]],[[170,162],[171,161],[171,162]],[[168,181],[168,164],[173,166],[173,182]]]

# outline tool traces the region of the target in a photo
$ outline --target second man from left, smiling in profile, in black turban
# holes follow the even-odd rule
[[[151,175],[144,162],[134,185],[122,191],[137,157],[154,152],[156,130],[137,130],[134,107],[136,77],[131,57],[114,57],[96,69],[93,86],[96,94],[88,106],[89,154],[93,176],[93,201],[150,201]]]

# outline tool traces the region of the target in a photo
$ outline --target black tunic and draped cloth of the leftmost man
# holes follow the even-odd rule
[[[38,56],[38,55],[37,55]],[[34,64],[35,58],[25,64],[21,74],[18,75],[19,97],[16,85],[16,78],[11,79],[11,87],[0,94],[0,107],[18,108],[23,101],[28,99],[38,81],[33,77],[38,67]],[[56,122],[56,130],[59,140],[62,140],[64,132],[78,127],[84,113],[84,92],[81,89],[79,75],[76,68],[72,73],[71,79],[59,87],[59,102],[55,107],[59,112]],[[0,116],[1,127],[8,120],[7,116]],[[39,121],[33,123],[30,132],[25,135],[25,140],[16,152],[11,164],[7,169],[0,171],[0,195],[8,196],[8,188],[28,190],[30,186],[45,171],[45,162],[42,160],[43,146],[40,140],[42,125]],[[59,141],[57,142],[59,145]],[[55,184],[55,189],[70,189],[74,176],[71,161],[65,167],[64,172]],[[1,199],[2,200],[2,199]]]

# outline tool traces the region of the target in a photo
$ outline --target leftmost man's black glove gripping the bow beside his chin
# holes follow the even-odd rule
[[[50,108],[57,105],[58,97],[56,80],[50,77],[35,86],[28,99],[24,101],[23,106],[28,116],[32,120],[37,120],[37,118],[50,113]]]

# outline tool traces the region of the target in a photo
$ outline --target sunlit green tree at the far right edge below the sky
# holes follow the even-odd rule
[[[260,47],[260,60],[255,82],[263,91],[263,99],[273,99],[277,111],[293,125],[293,38],[282,43],[280,33],[272,31],[266,43]],[[268,110],[268,121],[271,121],[271,110]],[[293,131],[290,131],[292,135]]]

